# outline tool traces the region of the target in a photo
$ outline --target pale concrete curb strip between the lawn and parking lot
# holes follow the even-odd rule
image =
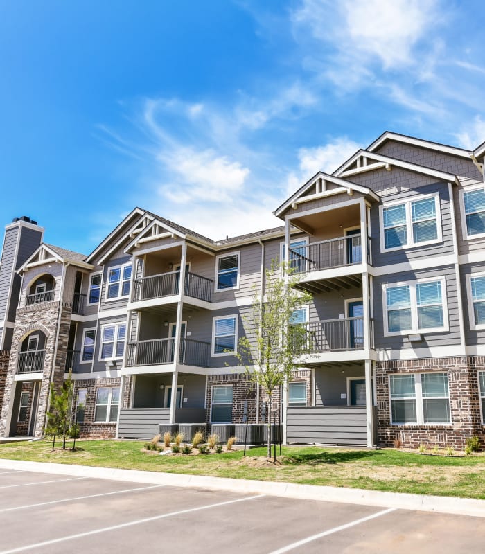
[[[274,481],[252,481],[249,479],[229,479],[226,477],[209,477],[202,475],[120,470],[110,467],[64,465],[21,460],[0,459],[0,468],[90,477],[94,479],[112,479],[113,481],[127,481],[130,483],[229,490],[232,492],[269,494],[276,497],[294,499],[321,500],[327,502],[361,504],[365,506],[401,508],[403,510],[420,510],[423,512],[440,512],[485,517],[484,500],[457,497],[434,497],[426,494],[401,494],[397,492],[379,492],[375,490],[297,485],[295,483],[276,483]]]

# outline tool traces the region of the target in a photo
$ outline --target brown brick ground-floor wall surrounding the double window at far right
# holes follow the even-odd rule
[[[470,364],[473,361],[473,365]],[[485,440],[480,422],[477,368],[485,369],[485,358],[449,357],[376,362],[378,444],[392,446],[395,439],[404,447],[420,444],[447,445],[462,449],[467,437]],[[389,374],[448,373],[451,425],[391,425]]]

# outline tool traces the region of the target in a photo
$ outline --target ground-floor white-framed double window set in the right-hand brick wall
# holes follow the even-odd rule
[[[389,375],[389,393],[394,425],[451,423],[447,373]]]

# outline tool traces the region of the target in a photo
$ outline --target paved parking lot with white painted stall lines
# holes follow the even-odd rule
[[[0,554],[482,551],[485,518],[0,469]]]

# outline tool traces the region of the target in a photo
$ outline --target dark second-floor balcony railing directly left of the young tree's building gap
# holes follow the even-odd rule
[[[155,339],[128,343],[127,367],[173,364],[175,339]],[[182,339],[179,364],[208,367],[211,343]]]

